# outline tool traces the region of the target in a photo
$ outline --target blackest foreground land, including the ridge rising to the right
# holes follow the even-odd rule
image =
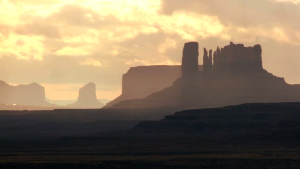
[[[300,168],[299,112],[300,103],[247,103],[118,132],[0,139],[0,168]]]

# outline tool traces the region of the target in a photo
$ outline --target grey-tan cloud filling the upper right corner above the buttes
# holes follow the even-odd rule
[[[295,35],[300,33],[300,23],[296,22],[300,5],[296,3],[299,0],[162,0],[161,13],[173,16],[185,11],[215,16],[225,29],[215,36],[227,40],[252,36],[252,40],[257,37],[299,44]],[[244,33],[236,32],[237,28],[245,30]]]

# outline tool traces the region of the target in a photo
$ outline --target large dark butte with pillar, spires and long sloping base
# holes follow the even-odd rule
[[[273,76],[263,69],[262,48],[259,44],[245,47],[230,42],[224,48],[217,47],[213,58],[204,49],[204,69],[199,72],[194,71],[192,64],[196,60],[196,47],[187,47],[188,44],[185,44],[183,52],[182,78],[172,86],[143,99],[120,102],[112,107],[175,107],[184,110],[247,102],[300,101],[300,85],[287,84],[283,78]],[[194,42],[191,44],[196,46]],[[187,57],[187,53],[193,53],[193,57]]]

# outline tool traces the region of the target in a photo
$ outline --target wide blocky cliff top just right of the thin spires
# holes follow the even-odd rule
[[[214,53],[214,71],[221,72],[258,72],[263,70],[262,47],[256,44],[245,47],[244,44],[230,42]]]

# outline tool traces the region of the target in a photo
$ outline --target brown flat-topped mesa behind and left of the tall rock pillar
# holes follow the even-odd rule
[[[198,65],[198,70],[202,70],[202,65]],[[109,102],[105,107],[110,107],[124,100],[144,98],[171,86],[176,79],[181,77],[181,74],[180,65],[138,66],[130,68],[122,78],[122,94]]]

